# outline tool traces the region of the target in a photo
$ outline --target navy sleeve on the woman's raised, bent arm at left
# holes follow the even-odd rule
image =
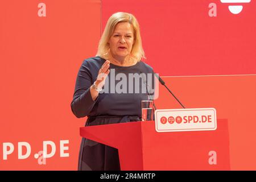
[[[71,109],[77,118],[85,117],[93,109],[94,104],[97,102],[92,100],[90,94],[90,86],[93,84],[92,73],[88,61],[84,61],[80,67],[79,73],[76,78],[75,93],[71,102]]]

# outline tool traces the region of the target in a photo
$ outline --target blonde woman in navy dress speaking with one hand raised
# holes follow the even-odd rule
[[[77,75],[71,102],[73,114],[77,118],[87,115],[85,126],[141,121],[141,101],[148,100],[149,92],[138,92],[138,85],[143,88],[150,79],[139,77],[136,86],[136,82],[131,83],[135,78],[131,75],[147,74],[154,82],[154,71],[142,58],[144,51],[135,17],[120,12],[110,16],[97,56],[84,60]],[[82,138],[79,170],[119,169],[117,149]]]

